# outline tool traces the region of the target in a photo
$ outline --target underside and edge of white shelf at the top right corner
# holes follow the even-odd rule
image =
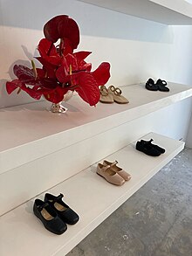
[[[184,0],[79,0],[169,25],[192,24],[192,4]]]

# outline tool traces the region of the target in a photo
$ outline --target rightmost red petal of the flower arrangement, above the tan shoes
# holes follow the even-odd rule
[[[98,86],[104,86],[110,78],[110,64],[102,62],[93,72],[93,77],[97,81]]]

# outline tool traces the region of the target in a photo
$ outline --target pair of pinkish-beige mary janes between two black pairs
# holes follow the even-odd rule
[[[118,167],[117,163],[117,161],[111,163],[106,160],[103,161],[103,164],[98,163],[97,174],[104,177],[108,183],[121,186],[131,179],[131,175]]]

